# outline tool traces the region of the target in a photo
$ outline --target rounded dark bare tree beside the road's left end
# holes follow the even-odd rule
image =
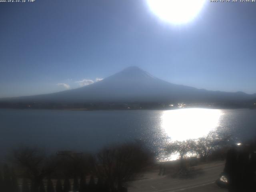
[[[138,143],[126,143],[105,148],[98,153],[96,170],[111,190],[122,188],[125,182],[147,165],[149,153]]]

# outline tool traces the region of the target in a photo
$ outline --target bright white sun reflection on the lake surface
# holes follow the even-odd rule
[[[162,114],[162,128],[171,140],[196,139],[214,130],[221,114],[218,109],[168,110]]]

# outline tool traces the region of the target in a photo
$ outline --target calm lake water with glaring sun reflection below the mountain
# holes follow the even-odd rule
[[[49,152],[95,152],[114,142],[146,141],[156,150],[166,140],[198,138],[210,130],[231,133],[243,141],[256,136],[256,110],[11,110],[0,109],[0,150],[20,145]]]

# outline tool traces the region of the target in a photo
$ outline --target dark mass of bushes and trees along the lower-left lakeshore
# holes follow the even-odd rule
[[[10,170],[4,166],[4,192],[122,192],[147,165],[149,153],[138,142],[106,147],[92,156],[61,151],[52,156],[39,148],[14,150]],[[16,174],[19,176],[19,183]],[[86,180],[87,178],[87,180]]]

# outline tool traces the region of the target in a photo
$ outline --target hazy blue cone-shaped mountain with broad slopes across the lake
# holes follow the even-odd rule
[[[53,94],[10,98],[30,102],[246,102],[256,94],[220,92],[176,85],[138,67],[129,67],[100,82]]]

